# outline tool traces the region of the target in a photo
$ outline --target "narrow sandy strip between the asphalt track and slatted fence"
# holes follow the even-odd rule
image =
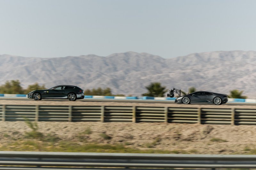
[[[0,100],[1,104],[9,105],[73,105],[73,106],[158,106],[158,107],[202,107],[202,108],[256,108],[256,105],[220,105],[214,104],[177,104],[177,103],[130,103],[130,102],[87,102],[87,101],[56,101],[56,100]]]

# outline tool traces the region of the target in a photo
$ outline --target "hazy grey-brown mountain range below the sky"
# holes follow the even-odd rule
[[[26,88],[38,82],[50,88],[59,84],[82,89],[109,87],[114,94],[140,96],[151,82],[175,87],[229,94],[232,89],[256,98],[256,52],[214,51],[164,59],[149,53],[113,53],[59,58],[0,55],[0,84],[20,80]]]

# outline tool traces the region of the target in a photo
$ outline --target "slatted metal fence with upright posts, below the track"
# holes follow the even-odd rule
[[[24,117],[31,121],[166,122],[256,125],[256,109],[0,105],[0,120],[24,121]]]

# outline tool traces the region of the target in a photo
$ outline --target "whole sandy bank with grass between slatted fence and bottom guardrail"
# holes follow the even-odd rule
[[[229,129],[230,126],[153,123],[151,125],[132,124],[134,127],[131,128],[126,127],[129,126],[128,124],[122,125],[120,123],[108,125],[100,122],[97,124],[53,124],[54,126],[43,122],[30,122],[28,119],[25,122],[19,122],[19,125],[17,123],[4,123],[3,127],[9,125],[16,127],[13,131],[10,129],[0,133],[0,151],[174,154],[256,153],[256,145],[253,144],[253,140],[248,143],[244,142],[246,141],[244,132],[252,132],[253,130],[247,130],[248,127],[243,126],[237,127],[236,132],[228,132],[232,135],[220,137],[215,135],[218,132],[223,132],[223,128]],[[161,128],[158,128],[159,126]],[[58,127],[58,130],[56,127]],[[214,131],[212,132],[212,130]],[[240,134],[242,134],[241,141],[239,141]]]

